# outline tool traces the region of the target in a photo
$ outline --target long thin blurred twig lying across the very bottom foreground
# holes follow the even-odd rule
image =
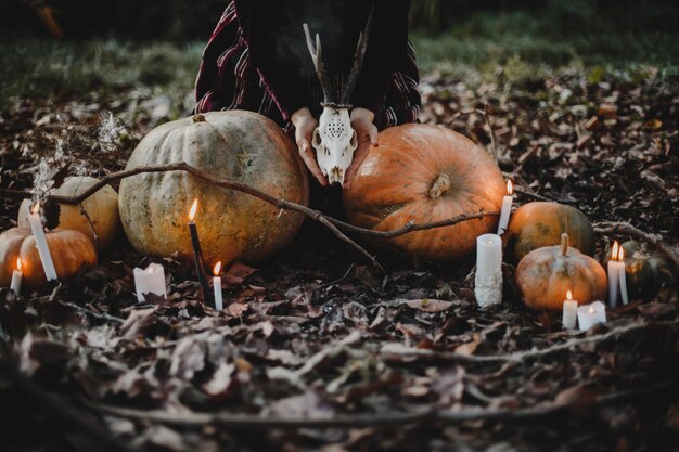
[[[600,396],[587,406],[604,406],[615,403],[627,402],[633,399],[648,397],[665,391],[677,383],[664,382],[659,385],[630,389],[627,391]],[[537,406],[510,410],[510,409],[462,409],[444,410],[436,405],[426,405],[417,412],[387,412],[376,414],[354,414],[328,417],[265,417],[261,415],[247,415],[229,412],[220,413],[187,413],[172,414],[165,411],[141,411],[134,409],[117,408],[111,405],[93,404],[86,402],[90,408],[102,413],[115,416],[153,421],[161,424],[174,425],[183,428],[203,428],[213,424],[231,428],[364,428],[364,427],[394,427],[419,423],[459,424],[469,421],[524,421],[554,415],[568,410],[569,405],[554,402],[543,403]]]

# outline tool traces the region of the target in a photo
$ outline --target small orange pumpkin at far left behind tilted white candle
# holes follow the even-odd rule
[[[85,234],[55,229],[44,235],[60,280],[73,276],[85,264],[97,263],[94,245]],[[16,258],[22,260],[22,285],[40,287],[47,283],[36,240],[28,228],[13,228],[0,234],[0,286],[10,285]]]

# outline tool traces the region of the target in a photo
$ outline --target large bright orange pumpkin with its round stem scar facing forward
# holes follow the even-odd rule
[[[502,173],[484,148],[443,127],[407,124],[380,133],[380,146],[370,148],[343,199],[349,222],[388,231],[499,211],[504,193]],[[457,262],[497,224],[497,216],[485,217],[371,243],[400,256]]]

